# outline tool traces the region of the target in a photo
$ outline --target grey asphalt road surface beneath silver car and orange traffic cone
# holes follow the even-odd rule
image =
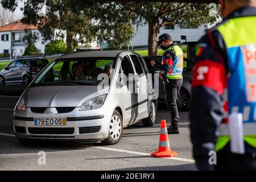
[[[0,96],[0,170],[196,170],[189,138],[188,112],[180,112],[179,135],[169,135],[177,158],[152,158],[158,149],[160,120],[170,117],[160,104],[154,127],[141,123],[127,127],[115,146],[101,143],[44,142],[23,145],[13,135],[15,96]],[[46,152],[46,164],[40,165],[39,151]]]

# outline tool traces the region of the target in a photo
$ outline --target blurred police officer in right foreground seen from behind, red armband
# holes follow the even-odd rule
[[[256,170],[256,0],[220,4],[223,22],[196,47],[193,157],[200,170]],[[210,151],[217,152],[216,165]]]

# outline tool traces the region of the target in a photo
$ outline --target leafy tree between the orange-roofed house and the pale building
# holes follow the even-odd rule
[[[66,52],[71,53],[74,50],[74,40],[88,43],[94,38],[90,11],[79,9],[81,3],[72,0],[28,0],[24,5],[22,22],[37,25],[44,40],[53,40],[56,36],[66,37]]]

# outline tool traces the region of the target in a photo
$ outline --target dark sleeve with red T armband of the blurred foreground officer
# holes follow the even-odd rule
[[[193,157],[199,170],[213,170],[209,152],[214,151],[217,126],[222,121],[222,92],[226,81],[225,57],[215,40],[218,32],[209,32],[196,48],[192,98],[189,104]]]

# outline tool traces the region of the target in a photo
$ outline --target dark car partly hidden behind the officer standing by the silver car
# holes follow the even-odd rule
[[[150,73],[159,74],[159,71],[152,67],[150,64],[151,60],[161,61],[162,56],[147,56],[143,57],[144,61],[147,64],[148,70]],[[191,59],[184,58],[184,69],[183,69],[183,85],[181,86],[177,106],[180,110],[188,110],[188,101],[191,97],[191,82],[192,82],[192,68],[195,65],[195,61]],[[153,81],[154,82],[154,81]],[[158,101],[165,102],[166,96],[164,93],[164,82],[162,78],[159,78],[159,97]]]

